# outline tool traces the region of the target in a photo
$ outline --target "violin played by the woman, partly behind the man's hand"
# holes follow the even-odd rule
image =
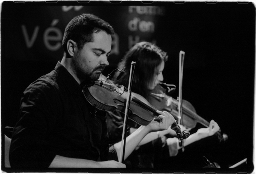
[[[163,85],[165,88],[163,88]],[[149,101],[155,108],[160,111],[168,111],[178,119],[178,101],[168,96],[165,92],[169,91],[168,86],[166,84],[158,84],[156,88],[151,92]],[[187,100],[183,100],[182,104],[182,113],[183,113],[183,126],[187,130],[191,130],[196,126],[197,123],[204,125],[205,127],[209,127],[210,123],[196,114],[195,108],[192,106],[190,102]],[[218,136],[219,141],[226,141],[228,136],[226,134],[221,134],[221,131],[215,133]]]

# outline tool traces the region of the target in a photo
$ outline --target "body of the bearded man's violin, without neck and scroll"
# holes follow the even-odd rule
[[[85,86],[83,89],[86,100],[95,108],[110,111],[125,113],[125,103],[127,92],[115,86],[113,83],[93,82],[91,85]],[[139,98],[140,102],[135,102],[135,98]],[[142,102],[141,102],[142,101]],[[148,125],[154,118],[154,115],[148,109],[142,108],[141,103],[149,104],[145,98],[139,94],[133,93],[133,98],[130,103],[128,115],[140,125]]]

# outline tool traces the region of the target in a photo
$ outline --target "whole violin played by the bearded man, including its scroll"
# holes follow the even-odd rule
[[[112,113],[114,113],[114,111],[125,113],[125,102],[128,94],[124,86],[113,84],[113,81],[107,79],[105,76],[102,75],[101,80],[86,84],[82,91],[87,102],[94,108],[102,111],[110,111]],[[131,102],[128,111],[129,119],[139,125],[148,125],[159,115],[157,110],[159,109],[151,106],[143,96],[131,92]],[[187,138],[187,135],[183,137],[181,128],[177,122],[171,125],[171,129],[175,130],[178,139],[182,140]]]

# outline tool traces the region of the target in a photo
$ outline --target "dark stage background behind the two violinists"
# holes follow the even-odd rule
[[[65,11],[63,6],[73,7]],[[133,12],[129,13],[129,6],[154,6],[159,7],[155,9],[160,11],[143,11],[139,14],[134,8]],[[180,157],[177,157],[176,161],[183,165],[181,168],[175,168],[174,162],[169,164],[168,170],[143,169],[139,172],[252,172],[255,7],[251,2],[3,2],[2,132],[5,126],[14,127],[18,121],[20,98],[26,87],[53,70],[57,61],[62,59],[61,47],[54,51],[46,47],[46,30],[55,27],[63,34],[65,25],[81,13],[93,13],[106,20],[113,25],[119,36],[119,52],[110,55],[110,65],[105,68],[104,75],[110,73],[128,51],[129,36],[133,37],[133,40],[139,36],[140,41],[153,41],[168,53],[169,61],[163,71],[164,82],[177,86],[173,94],[176,98],[179,91],[179,52],[185,51],[183,99],[191,102],[196,113],[207,121],[214,119],[222,132],[228,135],[228,140],[224,143],[218,143],[216,137],[209,137],[186,147],[183,154],[179,152]],[[134,18],[153,22],[154,30],[130,31],[127,26]],[[53,24],[54,19],[58,22]],[[22,25],[26,26],[26,33],[31,42],[33,33],[36,34],[36,26],[39,27],[30,48],[26,45]],[[56,37],[54,33],[49,35]],[[61,43],[49,43],[56,45],[59,42]],[[117,48],[116,46],[113,45],[113,48]],[[198,123],[196,129],[200,127],[203,126]],[[206,156],[211,162],[217,162],[221,170],[200,168],[207,165],[202,161],[202,156]],[[244,158],[247,158],[246,165],[228,169]],[[134,172],[128,169],[124,171]]]

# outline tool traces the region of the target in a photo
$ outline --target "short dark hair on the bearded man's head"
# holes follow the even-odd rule
[[[64,37],[62,40],[62,47],[67,53],[67,41],[69,39],[77,43],[78,49],[82,49],[83,45],[92,41],[92,34],[99,31],[113,35],[114,29],[109,23],[98,18],[93,14],[81,14],[73,18],[65,27]]]

